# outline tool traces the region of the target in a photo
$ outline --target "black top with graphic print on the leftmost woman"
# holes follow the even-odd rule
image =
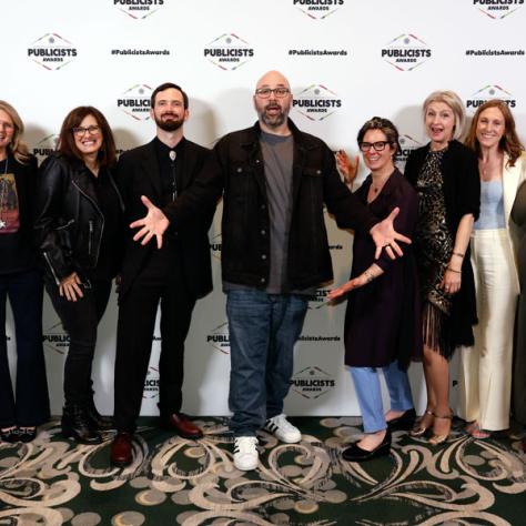
[[[37,266],[32,241],[36,183],[36,158],[31,156],[27,164],[12,155],[0,161],[0,274]]]

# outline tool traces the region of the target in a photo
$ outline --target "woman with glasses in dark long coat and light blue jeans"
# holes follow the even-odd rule
[[[375,117],[358,132],[358,145],[371,175],[356,191],[358,199],[378,219],[399,208],[396,230],[412,237],[418,213],[416,192],[394,165],[399,151],[398,132],[387,119]],[[353,166],[343,172],[347,175]],[[345,364],[351,367],[363,416],[365,435],[343,452],[350,462],[387,455],[391,429],[409,429],[415,411],[407,367],[419,357],[419,307],[416,264],[411,245],[403,257],[374,259],[368,235],[356,233],[351,281],[335,289],[330,300],[350,291],[345,315]],[[391,397],[384,413],[378,370],[382,368]]]

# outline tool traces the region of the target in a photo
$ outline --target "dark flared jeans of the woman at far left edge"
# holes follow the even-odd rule
[[[8,296],[17,337],[16,397],[9,374],[6,341]],[[42,296],[40,271],[0,274],[0,427],[40,425],[49,418],[42,348]]]

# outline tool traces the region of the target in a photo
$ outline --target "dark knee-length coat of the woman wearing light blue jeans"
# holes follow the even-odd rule
[[[368,176],[356,191],[367,203],[372,179]],[[395,208],[399,213],[394,227],[413,237],[418,215],[418,196],[398,170],[390,176],[368,209],[385,219]],[[356,234],[353,243],[351,279],[361,275],[373,263],[384,274],[348,294],[345,313],[345,364],[354,367],[383,367],[395,360],[407,368],[411,360],[422,356],[422,320],[415,256],[412,245],[404,255],[391,260],[387,255],[375,261],[375,245],[370,235]]]

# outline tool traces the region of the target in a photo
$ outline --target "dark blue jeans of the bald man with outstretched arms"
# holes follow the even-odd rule
[[[230,394],[235,436],[254,436],[266,418],[283,413],[289,393],[294,344],[303,327],[307,297],[230,291]]]

